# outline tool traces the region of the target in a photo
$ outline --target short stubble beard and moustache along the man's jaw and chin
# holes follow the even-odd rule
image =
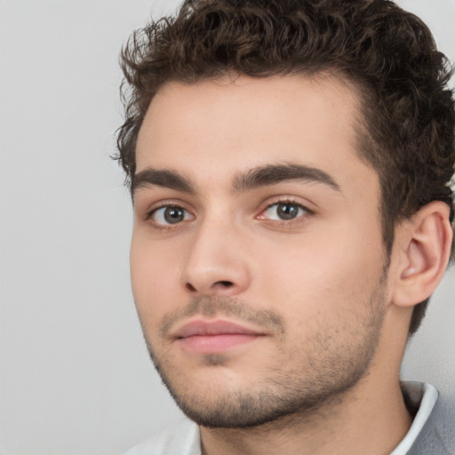
[[[287,418],[308,419],[341,403],[344,395],[368,374],[385,315],[385,281],[383,275],[371,292],[370,305],[365,305],[363,314],[344,320],[342,327],[329,328],[325,322],[325,326],[320,326],[320,331],[305,339],[301,346],[292,346],[292,352],[285,353],[288,356],[283,358],[283,364],[271,369],[267,378],[250,384],[249,389],[245,385],[233,392],[213,384],[188,389],[180,379],[179,369],[166,355],[156,355],[149,343],[148,351],[180,410],[198,425],[252,428],[287,421]],[[239,316],[247,319],[244,308],[241,302],[228,298],[195,299],[187,315],[242,313]],[[259,319],[261,317],[264,322],[267,315]],[[279,315],[270,317],[274,319],[272,325],[281,324]],[[323,320],[319,322],[323,323]],[[225,357],[205,355],[204,362],[217,368],[225,363]]]

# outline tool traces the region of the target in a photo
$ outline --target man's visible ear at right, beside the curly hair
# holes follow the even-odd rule
[[[395,229],[392,302],[412,307],[427,299],[443,279],[451,255],[450,207],[434,201]]]

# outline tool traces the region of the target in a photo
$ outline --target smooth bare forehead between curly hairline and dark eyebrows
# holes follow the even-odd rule
[[[260,165],[295,163],[340,185],[355,177],[371,186],[376,173],[357,156],[358,104],[354,88],[334,76],[168,83],[141,126],[137,172],[172,169],[221,185]]]

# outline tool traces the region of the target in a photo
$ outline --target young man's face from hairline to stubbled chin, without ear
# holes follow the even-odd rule
[[[335,78],[169,83],[140,130],[132,288],[191,419],[315,411],[371,365],[385,312],[378,176]]]

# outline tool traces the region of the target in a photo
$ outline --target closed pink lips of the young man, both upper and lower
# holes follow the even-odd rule
[[[197,320],[185,324],[173,334],[180,347],[193,354],[226,352],[266,336],[238,323]]]

